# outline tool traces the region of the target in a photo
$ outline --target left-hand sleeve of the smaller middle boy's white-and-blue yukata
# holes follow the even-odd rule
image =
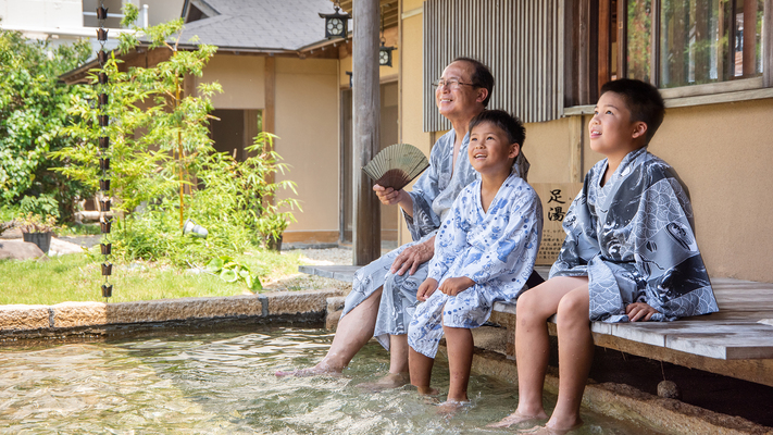
[[[453,201],[451,211],[448,217],[442,222],[442,225],[437,229],[435,237],[435,254],[429,261],[428,278],[433,278],[438,283],[446,275],[451,264],[457,261],[457,257],[464,254],[466,247],[466,232],[470,225],[466,222],[465,214],[469,210],[465,206],[471,202],[470,189],[464,189],[461,195]]]

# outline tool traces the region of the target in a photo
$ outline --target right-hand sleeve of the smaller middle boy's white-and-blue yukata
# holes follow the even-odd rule
[[[507,223],[501,229],[491,225],[488,229],[490,243],[477,261],[462,268],[460,276],[466,276],[475,284],[486,284],[519,269],[534,268],[543,234],[543,206],[534,189],[525,183],[514,187],[513,194],[493,204],[497,209],[489,210],[489,213],[500,214]]]

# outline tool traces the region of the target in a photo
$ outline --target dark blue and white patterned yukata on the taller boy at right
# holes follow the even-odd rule
[[[719,311],[674,170],[644,147],[600,187],[606,171],[607,159],[594,165],[566,212],[550,277],[588,276],[593,321],[627,322],[633,302],[658,310],[653,321]]]

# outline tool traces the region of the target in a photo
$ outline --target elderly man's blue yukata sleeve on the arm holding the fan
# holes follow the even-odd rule
[[[413,241],[436,232],[440,224],[440,217],[432,210],[432,203],[440,192],[440,173],[445,170],[441,148],[444,147],[433,147],[429,153],[429,167],[419,177],[413,189],[408,192],[413,201],[413,216],[400,209]]]

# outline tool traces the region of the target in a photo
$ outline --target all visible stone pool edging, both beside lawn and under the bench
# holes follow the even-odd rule
[[[173,325],[217,319],[304,319],[335,328],[344,298],[340,290],[274,291],[260,295],[159,299],[135,302],[62,302],[54,306],[0,306],[0,339],[30,334],[79,334],[84,328]],[[483,328],[482,328],[483,330]],[[518,385],[513,361],[502,353],[504,341],[496,331],[476,336],[473,369],[481,374]],[[483,332],[483,331],[481,331]],[[445,348],[441,348],[445,350]],[[558,374],[549,368],[545,389],[558,393]],[[665,434],[773,435],[773,430],[746,419],[709,411],[674,399],[664,399],[623,384],[590,383],[583,397],[588,409],[616,419],[644,423]],[[513,403],[513,407],[515,403]]]

